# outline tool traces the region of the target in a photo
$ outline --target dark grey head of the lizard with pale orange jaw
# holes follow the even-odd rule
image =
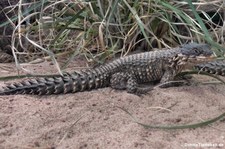
[[[189,43],[182,45],[180,49],[181,52],[176,57],[178,65],[185,64],[192,67],[215,58],[208,44]]]

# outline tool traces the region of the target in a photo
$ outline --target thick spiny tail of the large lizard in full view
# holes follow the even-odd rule
[[[109,85],[107,74],[97,70],[85,70],[64,74],[61,77],[37,78],[3,87],[0,95],[35,94],[50,95],[72,93],[101,88]]]

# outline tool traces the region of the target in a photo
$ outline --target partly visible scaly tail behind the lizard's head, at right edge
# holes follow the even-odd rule
[[[217,60],[204,64],[199,64],[196,65],[194,68],[199,71],[225,76],[225,60]]]

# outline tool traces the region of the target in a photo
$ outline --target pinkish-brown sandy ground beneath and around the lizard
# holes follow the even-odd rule
[[[16,74],[12,66],[1,64],[0,76]],[[48,63],[26,68],[39,74],[54,72]],[[193,80],[212,79],[197,76]],[[1,81],[0,86],[5,83]],[[222,114],[224,97],[225,86],[219,84],[156,89],[143,96],[111,88],[66,95],[1,96],[0,148],[225,148],[224,120],[196,129],[146,129],[118,108],[142,123],[181,125]]]

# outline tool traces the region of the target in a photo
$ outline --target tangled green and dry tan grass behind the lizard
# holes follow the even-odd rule
[[[20,0],[3,9],[6,14],[15,11],[16,16],[9,16],[0,25],[14,27],[11,46],[18,68],[22,68],[18,57],[29,62],[49,56],[60,71],[55,57],[68,52],[71,56],[63,68],[78,55],[102,63],[117,53],[127,55],[133,50],[169,48],[192,41],[208,42],[217,55],[223,55],[223,8],[222,0]]]

